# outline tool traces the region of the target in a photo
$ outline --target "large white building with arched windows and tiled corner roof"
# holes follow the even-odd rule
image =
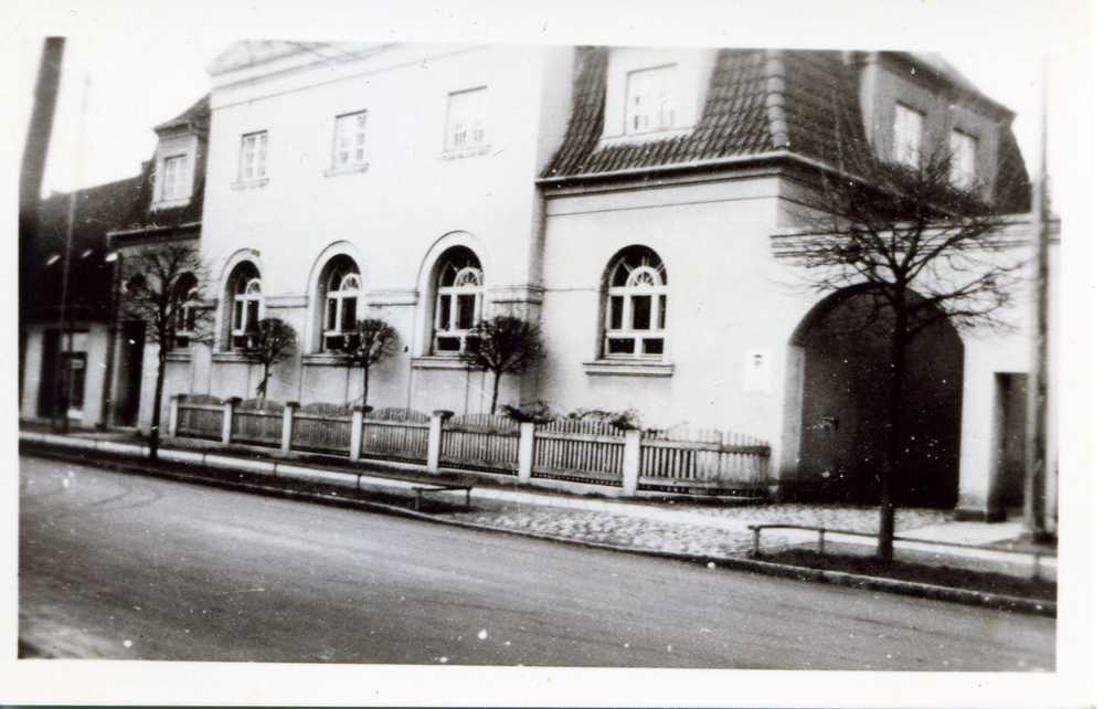
[[[508,403],[749,434],[783,485],[867,475],[877,358],[824,338],[826,296],[785,257],[803,195],[861,142],[902,165],[953,150],[964,189],[1027,209],[1012,114],[935,57],[240,43],[211,71],[216,331],[167,394],[254,396],[240,349],[279,317],[299,346],[268,398],[354,403],[336,347],[380,318],[400,353],[372,369],[371,405],[487,413],[490,378],[458,353],[510,311],[541,320],[548,357],[503,380]],[[991,518],[1022,490],[1026,330],[933,337],[913,417],[935,452],[915,479],[937,482],[914,501]]]

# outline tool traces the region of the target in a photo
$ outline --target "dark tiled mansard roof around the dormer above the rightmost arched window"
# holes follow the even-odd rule
[[[542,177],[671,166],[775,150],[846,166],[854,158],[852,150],[866,149],[856,80],[841,54],[771,50],[719,52],[701,118],[689,135],[599,146],[607,59],[608,50],[604,47],[580,50],[567,138]],[[828,139],[837,136],[841,139]],[[836,146],[849,148],[840,150]]]

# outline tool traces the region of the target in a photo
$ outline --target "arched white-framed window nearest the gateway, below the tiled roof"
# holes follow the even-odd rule
[[[606,272],[607,358],[660,358],[667,327],[667,271],[656,252],[630,246]]]

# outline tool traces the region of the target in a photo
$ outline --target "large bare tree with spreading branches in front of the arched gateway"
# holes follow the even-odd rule
[[[872,304],[869,317],[852,318],[856,328],[885,330],[889,420],[878,558],[891,561],[905,353],[920,332],[940,322],[1002,326],[1000,311],[1020,264],[1001,233],[1001,214],[1017,209],[1022,193],[1009,190],[1016,204],[985,203],[953,179],[948,157],[919,168],[868,158],[861,173],[825,173],[819,197],[810,199],[817,215],[793,253],[816,290],[857,287]]]

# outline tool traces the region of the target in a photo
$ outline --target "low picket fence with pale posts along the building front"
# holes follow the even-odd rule
[[[265,400],[173,396],[169,435],[637,489],[762,490],[769,446],[731,432],[640,432],[564,420],[534,425],[507,416]]]

